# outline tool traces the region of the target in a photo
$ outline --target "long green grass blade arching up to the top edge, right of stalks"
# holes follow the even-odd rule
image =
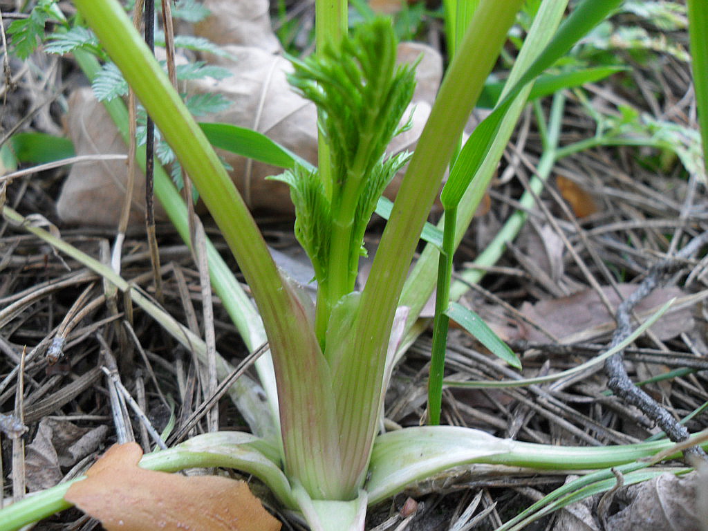
[[[621,4],[621,0],[584,0],[581,4],[578,4],[570,16],[561,24],[551,42],[548,43],[525,74],[521,76],[513,89],[509,91],[504,101],[497,105],[491,115],[485,118],[467,139],[464,148],[457,156],[455,166],[450,171],[450,178],[447,179],[445,187],[442,188],[440,195],[442,206],[448,208],[452,205],[457,205],[462,199],[469,182],[489,152],[506,110],[508,110],[514,98],[518,96],[521,89],[545,69],[552,66],[583,35],[606,18],[619,4]]]

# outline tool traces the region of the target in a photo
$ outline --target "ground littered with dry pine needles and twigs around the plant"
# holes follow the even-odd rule
[[[11,11],[7,4],[0,2],[3,13]],[[311,10],[296,7],[292,6],[293,16],[302,17],[307,27]],[[644,28],[649,35],[663,34],[636,15],[625,15],[619,21]],[[423,36],[435,37],[435,28],[438,25],[430,25]],[[680,30],[667,32],[666,38],[678,47],[685,44],[685,32]],[[707,263],[704,246],[690,254],[681,251],[707,231],[708,203],[705,173],[701,175],[695,171],[697,166],[687,163],[697,145],[691,136],[697,130],[690,67],[668,48],[641,53],[612,50],[629,69],[582,91],[567,91],[559,145],[601,137],[603,120],[618,120],[620,109],[625,113],[632,109],[639,117],[636,120],[644,120],[643,128],[632,134],[643,138],[665,135],[675,149],[671,145],[664,149],[595,145],[559,159],[539,194],[540,202],[525,209],[527,222],[518,238],[508,243],[495,265],[486,268],[479,285],[470,286],[463,301],[518,352],[523,375],[535,376],[565,370],[607,350],[617,328],[619,301],[647,277],[660,280],[660,286],[628,312],[630,326],[676,297],[673,309],[627,349],[619,365],[633,382],[652,380],[642,389],[663,406],[668,417],[687,419],[685,427],[693,433],[708,427],[708,417],[702,413],[708,403],[702,372],[708,368]],[[13,127],[61,134],[67,93],[82,82],[71,62],[35,55],[27,62],[13,60],[10,66],[12,84],[4,84],[0,93],[0,138]],[[518,209],[544,150],[535,111],[547,117],[550,104],[546,98],[523,114],[485,206],[456,255],[458,273],[470,267]],[[694,163],[698,164],[695,159]],[[108,263],[115,229],[67,226],[57,217],[55,202],[65,176],[64,170],[54,169],[30,173],[7,185],[0,176],[0,192],[4,193],[0,202],[34,217],[34,222],[51,227],[64,241]],[[287,215],[257,214],[275,249],[295,249],[292,220]],[[210,229],[208,219],[205,224],[232,263],[217,231]],[[373,225],[372,241],[380,228],[380,222]],[[178,321],[202,333],[202,295],[192,255],[169,225],[160,224],[157,235],[161,304]],[[123,249],[122,277],[155,296],[144,230],[132,229]],[[661,270],[657,270],[659,265]],[[217,350],[236,365],[246,350],[218,299],[213,321]],[[57,341],[63,345],[61,355],[53,355],[55,350],[50,349]],[[415,426],[424,418],[429,360],[430,333],[426,332],[396,368],[385,413],[392,423]],[[18,377],[21,365],[22,378]],[[132,432],[128,436],[149,451],[147,430],[139,418],[116,405],[113,384],[101,367],[120,377],[158,431],[171,418],[175,429],[180,428],[207,399],[204,373],[195,356],[159,324],[139,309],[127,307],[120,294],[110,294],[101,278],[81,263],[58,253],[23,227],[0,219],[0,413],[21,410],[22,423],[28,428],[21,438],[8,437],[11,430],[0,435],[6,500],[18,491],[45,489],[81,475],[117,440],[116,426],[121,424],[117,416],[127,414],[122,425]],[[450,333],[447,371],[447,377],[456,380],[515,377],[459,329]],[[444,393],[443,422],[558,445],[628,444],[661,431],[658,417],[646,416],[632,405],[636,404],[632,397],[617,394],[622,393],[609,392],[602,364],[581,377],[540,386],[450,388]],[[228,399],[219,402],[219,413],[219,428],[247,429]],[[2,421],[6,418],[0,416]],[[206,426],[202,421],[195,433]],[[372,510],[367,528],[494,529],[564,481],[566,474],[459,470]],[[257,485],[253,488],[263,493]],[[656,486],[654,505],[676,498],[672,489]],[[593,498],[570,512],[559,511],[527,529],[639,528],[632,527],[639,520],[612,523],[620,510],[639,503],[636,494],[621,489],[615,494],[603,503]],[[410,518],[401,513],[406,496],[418,502]],[[273,505],[270,508],[277,511]],[[640,510],[646,514],[646,509]],[[695,514],[693,510],[687,513],[689,517]],[[668,529],[668,520],[675,522],[676,518],[671,513],[659,527],[643,527]],[[295,520],[284,522],[285,528],[302,529]],[[96,525],[79,511],[70,510],[36,528],[91,529]]]

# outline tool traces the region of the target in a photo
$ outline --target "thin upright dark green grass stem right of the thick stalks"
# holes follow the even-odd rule
[[[445,210],[442,233],[442,253],[438,261],[438,292],[435,296],[435,321],[433,324],[433,348],[430,352],[430,377],[428,377],[428,423],[440,424],[442,408],[442,377],[445,373],[445,350],[450,317],[445,310],[450,304],[450,278],[452,256],[455,254],[455,226],[457,207]]]

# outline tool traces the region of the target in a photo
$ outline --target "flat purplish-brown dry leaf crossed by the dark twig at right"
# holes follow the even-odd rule
[[[628,297],[634,290],[634,284],[619,284],[619,292],[623,298]],[[603,292],[612,303],[612,307],[617,309],[619,297],[610,286],[603,287]],[[685,293],[678,287],[665,287],[653,290],[648,297],[642,299],[634,307],[637,314],[658,308],[673,297],[680,297]],[[552,333],[561,342],[575,341],[578,334],[586,333],[588,336],[581,338],[588,341],[593,336],[599,336],[615,329],[615,321],[607,313],[607,309],[595,290],[587,289],[568,297],[558,299],[542,300],[535,304],[524,302],[520,312],[535,322],[543,329]],[[678,336],[678,334],[692,329],[694,320],[690,309],[671,309],[661,316],[653,326],[651,331],[661,340],[666,340]],[[525,339],[532,343],[547,343],[549,338],[542,332],[519,323],[519,337],[515,339]]]

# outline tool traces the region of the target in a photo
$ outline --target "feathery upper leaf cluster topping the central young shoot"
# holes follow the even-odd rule
[[[338,188],[370,174],[412,96],[413,69],[394,68],[393,42],[390,23],[377,19],[345,38],[340,48],[327,46],[319,55],[290,58],[295,72],[288,81],[321,111]],[[357,182],[352,188],[363,187]],[[333,207],[338,193],[333,189]]]

